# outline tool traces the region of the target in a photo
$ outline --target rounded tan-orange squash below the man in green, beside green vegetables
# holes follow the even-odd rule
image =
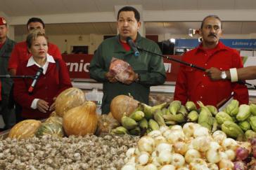
[[[111,101],[110,112],[118,122],[121,122],[124,113],[129,116],[138,107],[138,104],[139,101],[134,100],[132,97],[118,95]]]

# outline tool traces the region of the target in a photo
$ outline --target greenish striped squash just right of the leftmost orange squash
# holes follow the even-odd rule
[[[63,127],[58,122],[44,122],[37,129],[36,136],[44,135],[63,137]]]

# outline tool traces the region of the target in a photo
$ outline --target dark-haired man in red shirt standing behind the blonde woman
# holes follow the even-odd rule
[[[33,29],[41,29],[44,31],[44,22],[38,17],[32,17],[27,21],[27,32],[29,33]],[[49,55],[53,56],[54,59],[61,59],[60,50],[57,45],[49,43]],[[8,63],[8,71],[11,75],[16,75],[18,64],[28,59],[31,54],[27,50],[27,44],[25,41],[17,43],[13,51],[11,52],[11,58]]]

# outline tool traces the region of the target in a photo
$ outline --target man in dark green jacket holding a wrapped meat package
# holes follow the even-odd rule
[[[162,58],[147,52],[140,52],[139,57],[134,56],[134,51],[127,44],[127,37],[131,37],[139,47],[161,53],[156,43],[143,38],[138,33],[141,26],[138,10],[131,6],[125,6],[118,11],[117,29],[119,35],[108,38],[95,52],[89,66],[90,76],[103,83],[102,113],[110,112],[110,103],[114,97],[120,94],[131,94],[134,99],[148,104],[148,96],[152,85],[165,83],[166,74]],[[122,59],[132,66],[132,73],[124,81],[118,81],[109,72],[111,59]]]

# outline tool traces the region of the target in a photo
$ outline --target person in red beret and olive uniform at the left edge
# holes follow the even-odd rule
[[[8,74],[8,60],[15,42],[8,38],[8,27],[4,17],[0,17],[0,75]],[[0,79],[0,114],[3,117],[5,129],[10,129],[15,125],[14,109],[8,107],[9,95],[13,80],[11,78]]]

